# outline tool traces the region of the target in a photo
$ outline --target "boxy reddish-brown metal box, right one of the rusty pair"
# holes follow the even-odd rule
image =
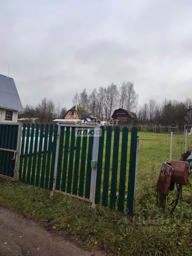
[[[173,182],[187,185],[189,183],[189,163],[182,161],[171,161],[173,167]]]

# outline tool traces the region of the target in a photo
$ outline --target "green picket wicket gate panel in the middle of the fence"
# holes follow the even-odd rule
[[[87,136],[76,136],[78,132],[81,128],[60,127],[55,189],[89,199],[93,137],[88,132]]]

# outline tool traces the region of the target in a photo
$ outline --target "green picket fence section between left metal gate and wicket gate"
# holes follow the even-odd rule
[[[44,132],[45,129],[45,132]],[[58,125],[24,124],[19,180],[52,190]]]

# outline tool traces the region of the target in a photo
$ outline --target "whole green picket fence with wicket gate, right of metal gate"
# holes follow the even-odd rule
[[[78,128],[78,130],[81,128]],[[88,129],[83,127],[84,130]],[[90,131],[94,128],[89,128]],[[98,144],[95,204],[133,213],[137,128],[101,129]],[[59,137],[58,137],[59,131]],[[56,192],[89,200],[91,160],[95,137],[76,136],[74,126],[24,124],[22,130],[19,180]],[[57,155],[57,156],[56,156]],[[55,165],[55,160],[57,164]]]

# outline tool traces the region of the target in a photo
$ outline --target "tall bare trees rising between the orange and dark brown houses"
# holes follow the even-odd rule
[[[138,94],[135,92],[132,82],[123,82],[121,87],[111,83],[107,88],[100,86],[87,94],[86,89],[76,93],[73,97],[73,105],[82,105],[89,113],[99,119],[110,119],[114,110],[123,108],[135,111]]]

